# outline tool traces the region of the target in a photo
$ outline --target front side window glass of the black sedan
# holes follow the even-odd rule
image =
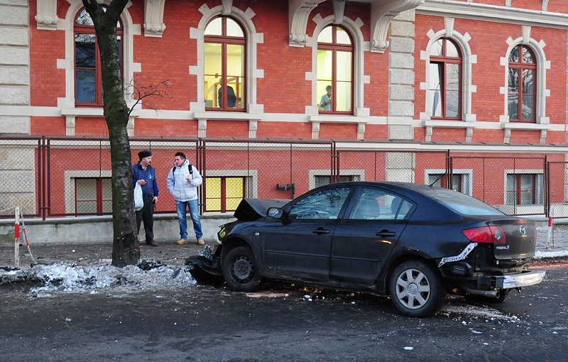
[[[350,187],[340,187],[311,194],[296,202],[288,216],[290,219],[337,219],[350,191]]]

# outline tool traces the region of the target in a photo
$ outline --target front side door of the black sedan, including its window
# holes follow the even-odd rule
[[[275,277],[329,279],[332,236],[352,187],[307,194],[261,231],[263,267]]]

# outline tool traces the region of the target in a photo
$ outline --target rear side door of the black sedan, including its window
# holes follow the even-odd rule
[[[332,238],[330,278],[373,285],[403,233],[413,203],[398,194],[361,187]]]

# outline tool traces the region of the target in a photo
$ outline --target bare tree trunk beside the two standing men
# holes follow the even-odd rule
[[[134,214],[129,136],[130,109],[124,100],[116,24],[129,0],[82,0],[92,18],[101,56],[104,119],[109,128],[112,164],[112,265],[134,265],[140,258]]]

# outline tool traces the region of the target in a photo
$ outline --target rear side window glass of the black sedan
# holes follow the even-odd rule
[[[356,197],[349,219],[402,220],[413,204],[406,199],[383,190],[364,188]]]

